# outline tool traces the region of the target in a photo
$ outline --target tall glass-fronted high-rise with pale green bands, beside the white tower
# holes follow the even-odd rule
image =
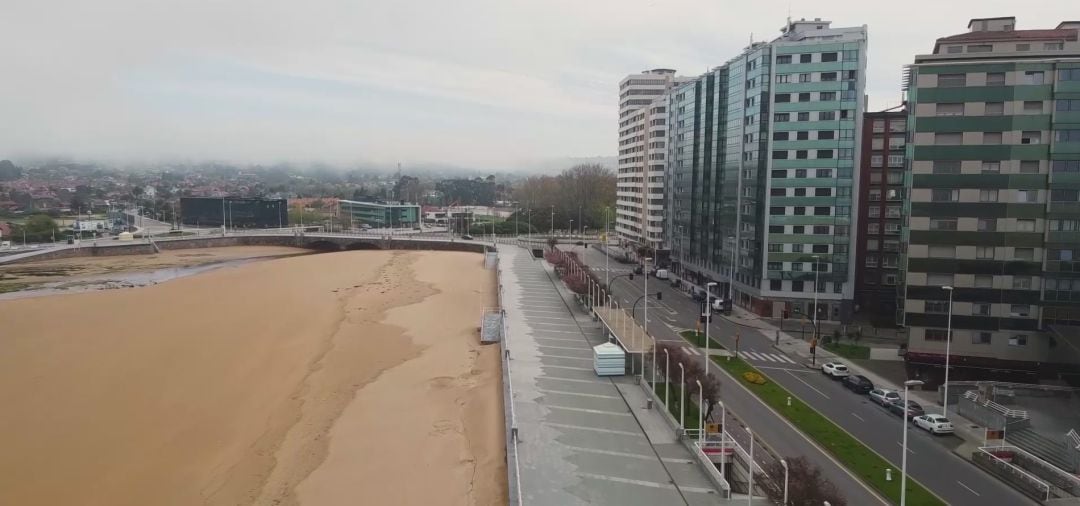
[[[768,316],[846,320],[866,28],[789,22],[672,91],[672,269]]]

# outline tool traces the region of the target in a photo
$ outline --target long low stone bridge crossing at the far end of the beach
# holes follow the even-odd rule
[[[406,238],[407,237],[407,238]],[[370,236],[348,234],[239,234],[214,237],[176,237],[121,243],[102,241],[99,244],[62,245],[52,248],[0,257],[0,264],[59,258],[111,257],[117,255],[152,255],[161,250],[216,248],[225,246],[291,246],[316,251],[346,251],[354,249],[429,249],[445,251],[485,252],[491,245],[478,241],[447,240],[445,237]]]

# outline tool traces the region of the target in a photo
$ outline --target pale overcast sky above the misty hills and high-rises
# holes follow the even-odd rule
[[[1023,9],[1020,6],[1023,5]],[[437,162],[613,155],[618,82],[696,76],[794,17],[867,25],[870,107],[971,17],[1075,0],[10,0],[0,159]]]

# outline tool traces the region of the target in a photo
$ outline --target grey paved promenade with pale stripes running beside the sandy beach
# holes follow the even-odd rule
[[[592,346],[606,341],[603,327],[577,309],[544,261],[515,246],[498,250],[522,502],[719,504],[689,451],[654,429],[650,416],[662,415],[620,388],[633,380],[593,371]]]

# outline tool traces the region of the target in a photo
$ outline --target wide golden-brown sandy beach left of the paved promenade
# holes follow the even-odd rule
[[[504,502],[482,263],[347,251],[4,301],[0,504]]]

